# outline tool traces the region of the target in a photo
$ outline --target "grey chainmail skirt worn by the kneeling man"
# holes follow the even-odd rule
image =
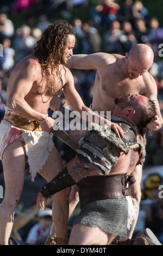
[[[128,237],[136,218],[136,200],[131,197],[87,203],[74,224],[98,227],[106,233]]]

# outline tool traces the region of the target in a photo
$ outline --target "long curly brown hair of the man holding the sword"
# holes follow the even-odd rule
[[[59,74],[59,65],[65,64],[63,56],[68,35],[75,36],[74,28],[65,20],[57,20],[42,32],[32,52],[39,60],[42,75],[49,81],[49,76],[52,74],[49,69],[51,71],[55,69],[56,74]]]

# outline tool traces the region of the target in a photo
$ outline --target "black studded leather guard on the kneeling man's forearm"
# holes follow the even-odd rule
[[[55,194],[61,190],[64,190],[64,188],[71,187],[75,184],[76,182],[74,182],[74,180],[71,178],[67,168],[65,167],[57,176],[54,177],[53,180],[41,188],[40,193],[43,197],[49,198],[52,196],[52,194]]]

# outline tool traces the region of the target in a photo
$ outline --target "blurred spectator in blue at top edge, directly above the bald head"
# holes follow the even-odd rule
[[[146,22],[149,21],[149,12],[141,1],[135,1],[133,4],[133,13],[136,19],[144,19]]]

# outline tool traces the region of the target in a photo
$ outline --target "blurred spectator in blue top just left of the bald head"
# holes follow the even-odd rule
[[[117,42],[123,31],[119,21],[112,21],[109,31],[104,33],[104,43],[108,53],[118,53]]]

